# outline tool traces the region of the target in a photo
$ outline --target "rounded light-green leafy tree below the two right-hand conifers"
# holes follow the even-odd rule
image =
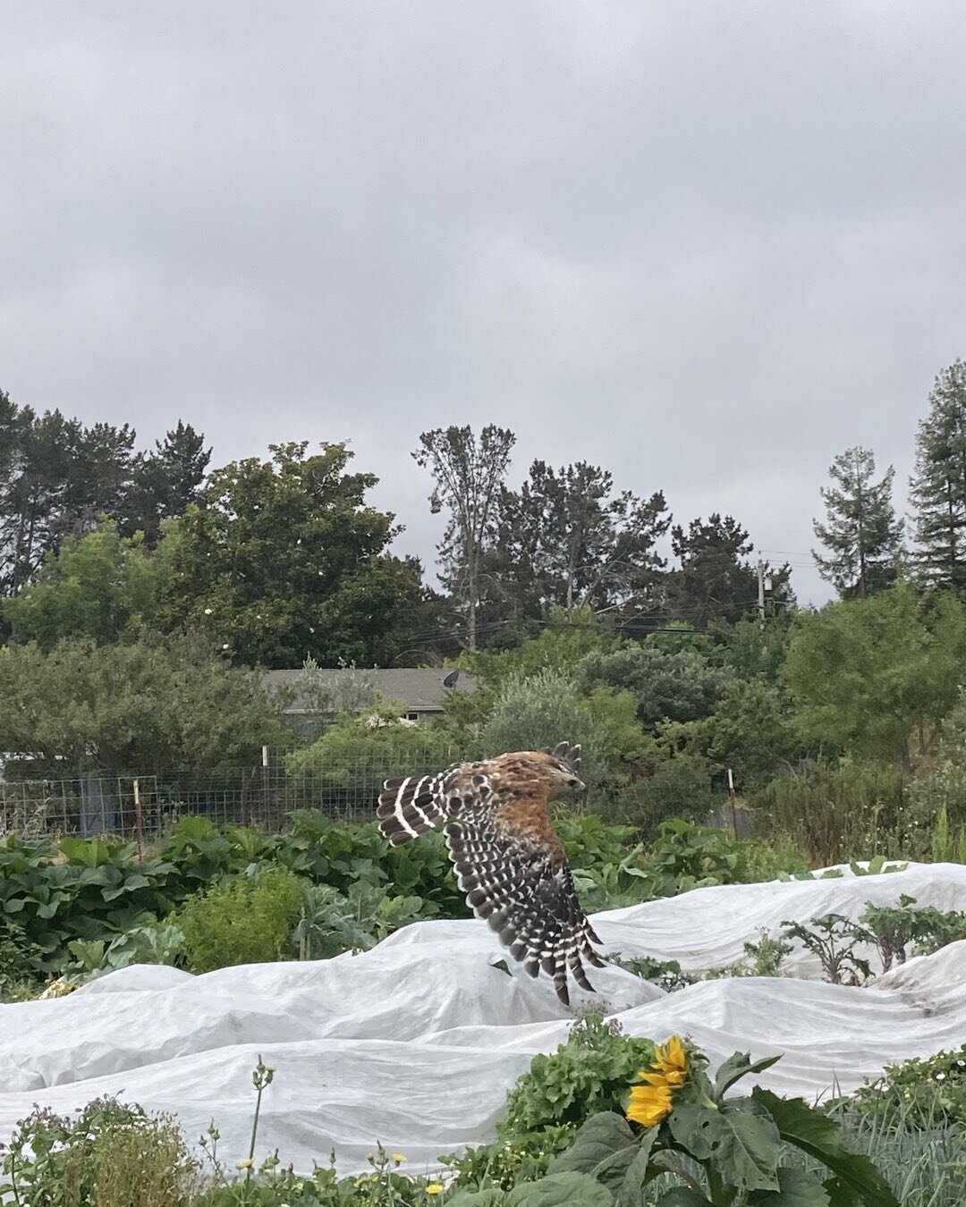
[[[901,582],[802,613],[782,674],[807,737],[908,768],[955,704],[964,658],[959,600]]]

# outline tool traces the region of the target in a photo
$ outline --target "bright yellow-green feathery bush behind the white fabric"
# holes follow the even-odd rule
[[[286,868],[232,876],[193,893],[179,914],[188,969],[208,973],[291,955],[303,899],[304,882]]]

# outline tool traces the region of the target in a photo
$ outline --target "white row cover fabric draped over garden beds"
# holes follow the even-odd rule
[[[702,970],[786,919],[857,917],[867,900],[966,909],[966,867],[838,880],[700,888],[593,919],[610,952]],[[366,1168],[376,1142],[431,1168],[442,1153],[493,1138],[506,1092],[536,1053],[568,1036],[572,1011],[549,978],[530,980],[478,921],[418,922],[372,951],[251,964],[192,976],[139,966],[76,993],[0,1005],[0,1139],[39,1103],[76,1112],[114,1094],[174,1112],[194,1141],[214,1120],[229,1167],[248,1155],[261,1054],[277,1067],[258,1155],[296,1168]],[[597,998],[628,1034],[691,1036],[712,1066],[732,1051],[782,1054],[760,1078],[813,1101],[885,1065],[966,1039],[966,943],[919,957],[866,989],[828,985],[805,952],[791,978],[704,981],[665,995],[617,967],[593,969]],[[594,1001],[572,989],[574,1009]]]

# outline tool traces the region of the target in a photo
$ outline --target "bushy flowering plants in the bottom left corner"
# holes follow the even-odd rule
[[[35,1108],[2,1151],[0,1195],[24,1207],[191,1207],[199,1162],[171,1115],[115,1098],[71,1119]]]

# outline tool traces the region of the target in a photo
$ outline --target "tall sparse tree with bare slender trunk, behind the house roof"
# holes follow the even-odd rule
[[[471,649],[477,646],[487,550],[494,544],[500,490],[516,441],[513,432],[494,424],[482,430],[479,441],[469,426],[437,427],[421,433],[413,453],[433,478],[430,511],[449,511],[437,546],[440,581],[464,608]]]

